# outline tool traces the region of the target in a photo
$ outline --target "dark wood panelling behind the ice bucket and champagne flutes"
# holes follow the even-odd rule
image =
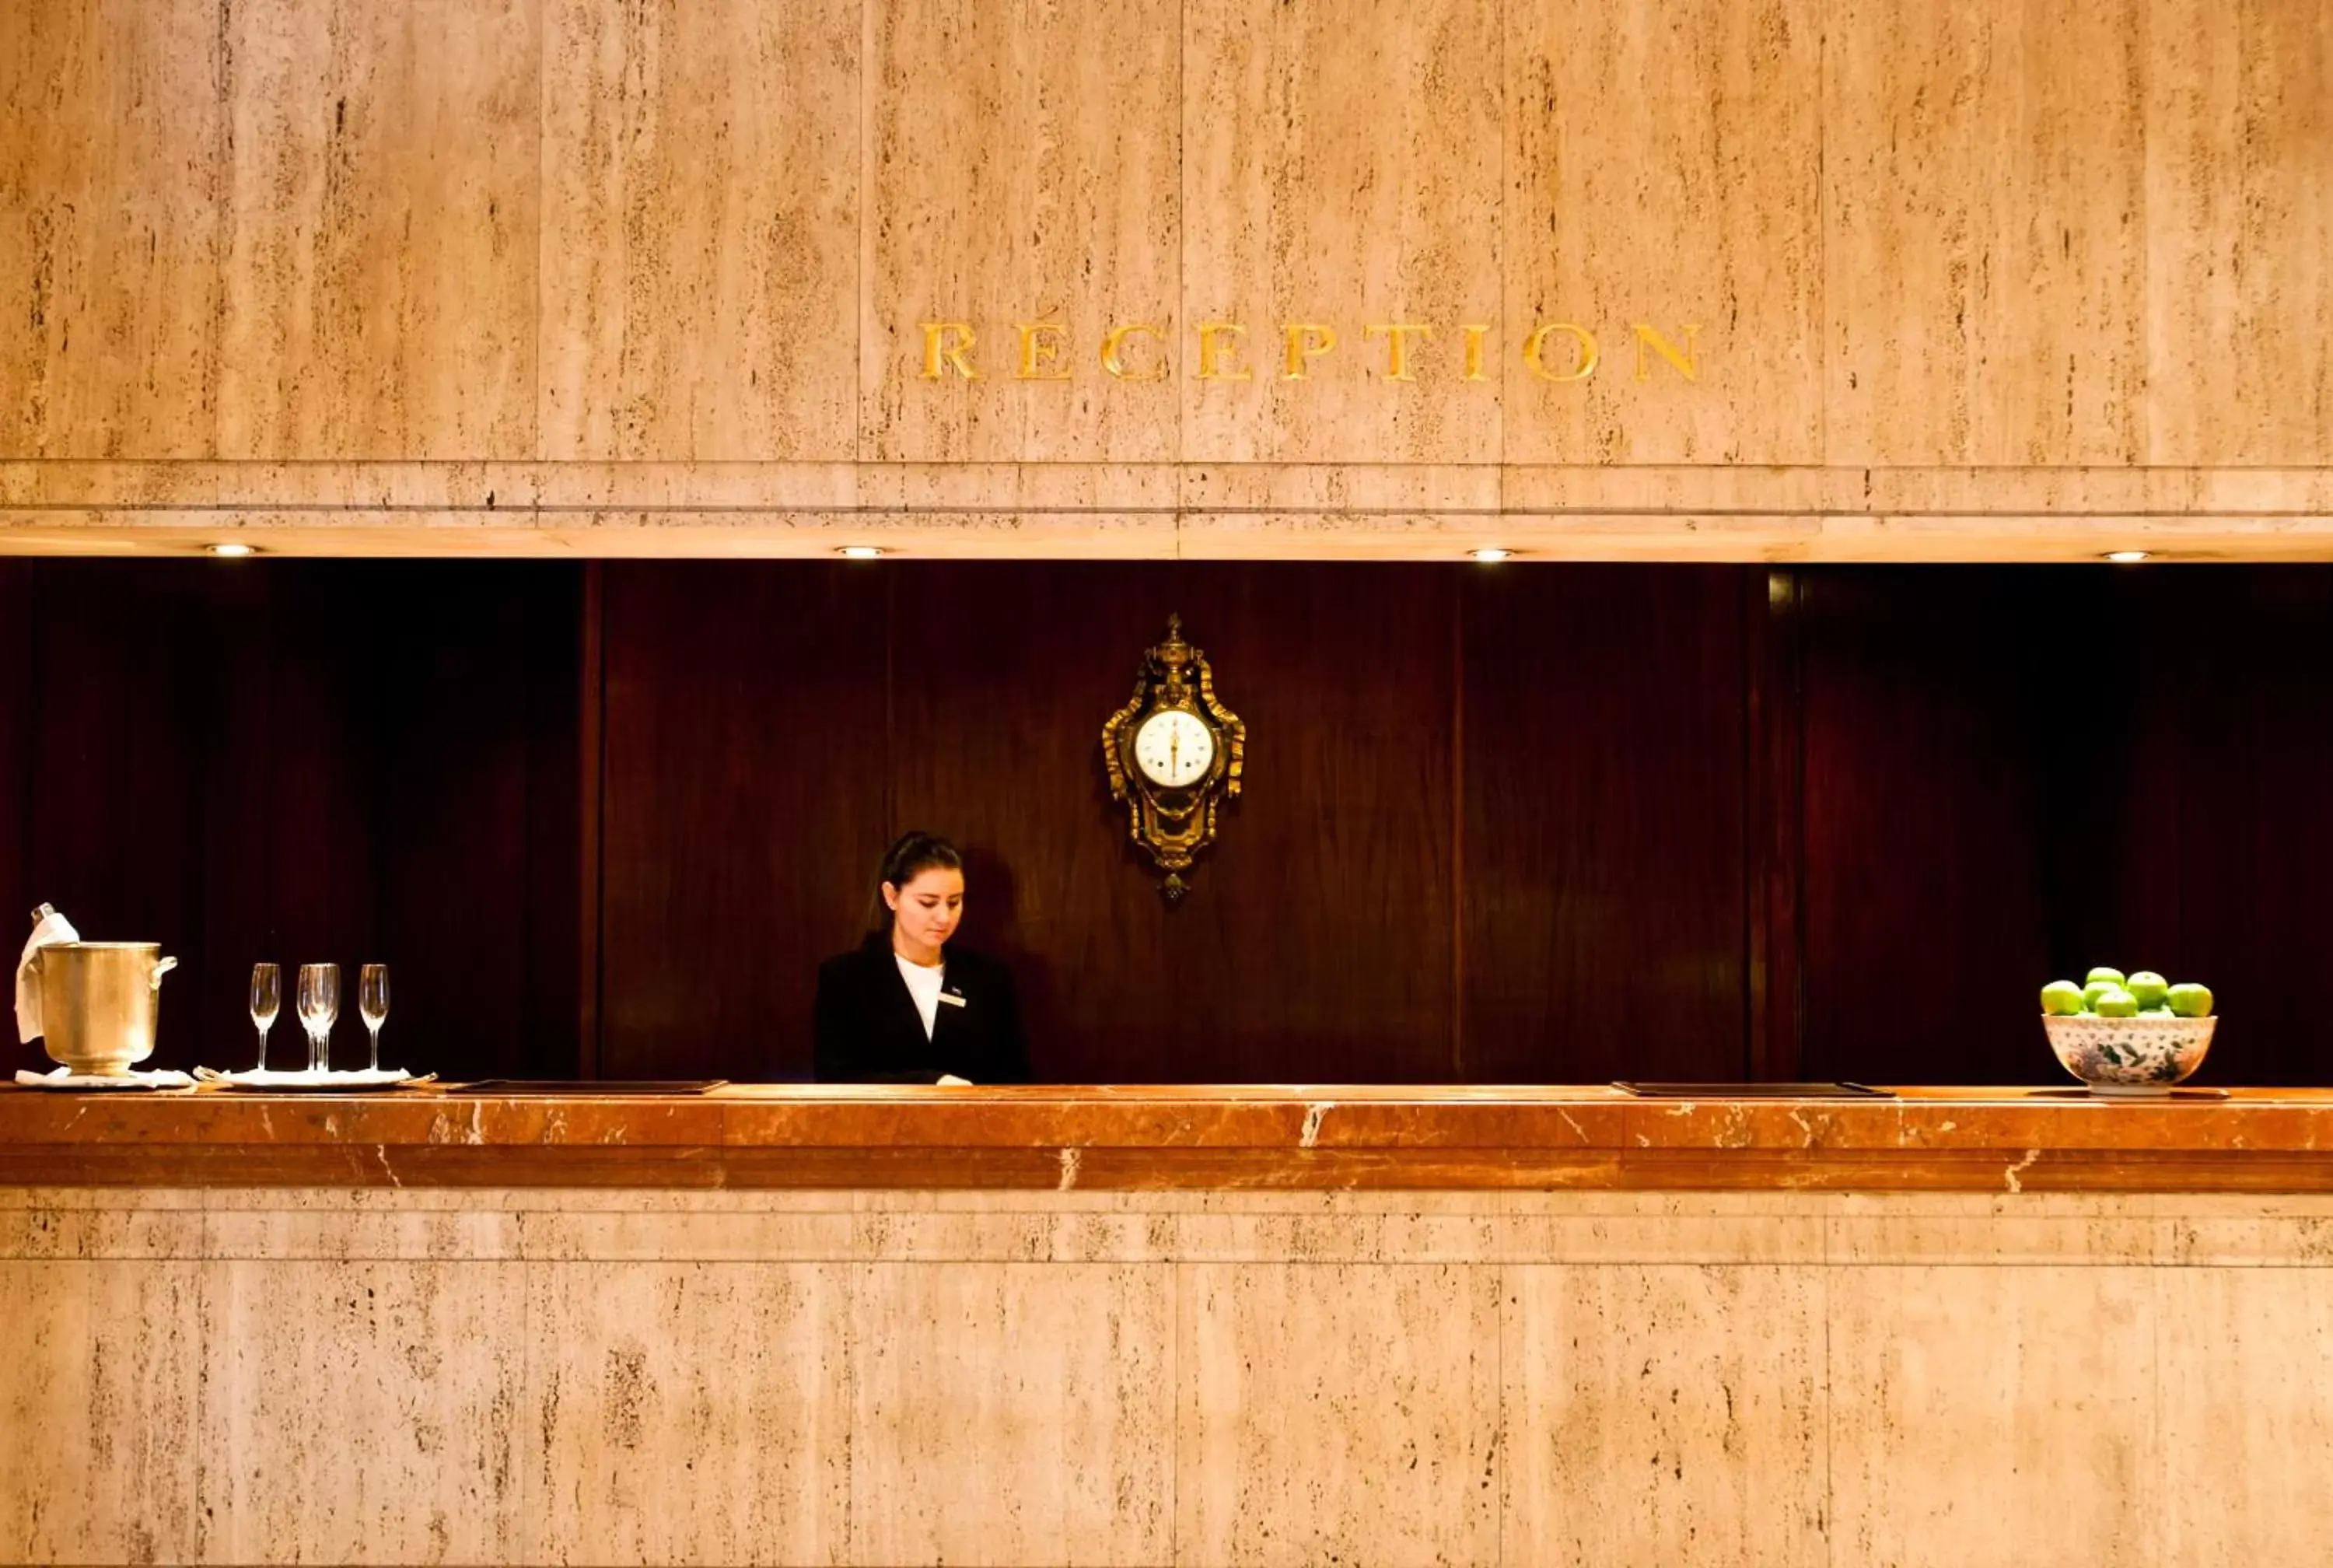
[[[392,966],[390,1057],[574,1071],[572,567],[33,562],[9,901],[159,940],[154,1062],[245,1066],[250,964]],[[541,842],[544,835],[558,835]],[[14,950],[14,947],[12,947]],[[411,1045],[408,1045],[411,1043]]]

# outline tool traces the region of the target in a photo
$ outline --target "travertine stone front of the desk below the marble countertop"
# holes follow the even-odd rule
[[[2303,1563],[2333,1202],[0,1190],[0,1559]]]

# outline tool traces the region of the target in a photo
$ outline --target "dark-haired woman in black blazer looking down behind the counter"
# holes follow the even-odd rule
[[[882,856],[868,936],[819,964],[821,1083],[1027,1083],[1013,971],[947,947],[964,917],[964,856],[908,833]]]

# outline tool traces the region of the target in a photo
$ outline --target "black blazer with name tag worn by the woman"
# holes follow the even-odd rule
[[[1013,971],[961,947],[947,947],[945,957],[931,1038],[887,938],[819,964],[812,1010],[819,1083],[938,1083],[940,1073],[1029,1083]]]

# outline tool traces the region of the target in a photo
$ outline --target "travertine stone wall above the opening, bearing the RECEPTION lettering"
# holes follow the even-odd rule
[[[2321,5],[23,0],[0,124],[0,548],[2333,555]]]

